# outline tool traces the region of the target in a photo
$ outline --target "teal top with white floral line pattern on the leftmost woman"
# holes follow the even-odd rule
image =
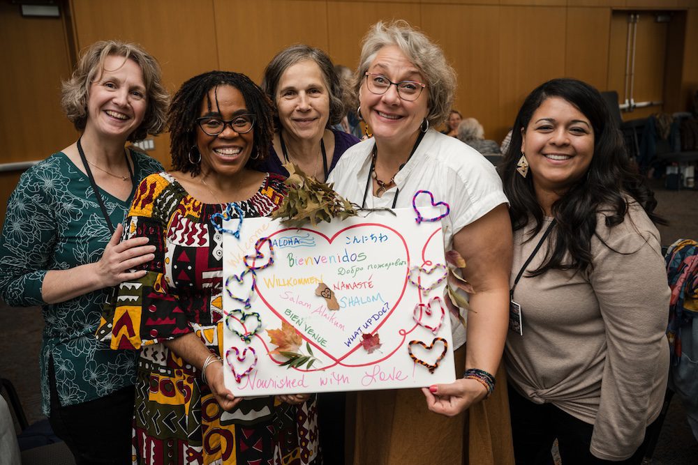
[[[136,185],[163,167],[131,151]],[[135,190],[135,188],[134,188]],[[133,192],[121,201],[100,192],[112,224],[124,222]],[[0,296],[15,307],[41,305],[45,327],[41,348],[43,413],[50,411],[47,366],[53,360],[61,405],[108,395],[135,381],[135,351],[114,351],[98,342],[107,290],[57,304],[41,297],[48,270],[94,263],[111,236],[89,178],[62,153],[29,168],[10,196],[0,236]]]

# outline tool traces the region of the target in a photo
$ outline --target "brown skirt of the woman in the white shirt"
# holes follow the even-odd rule
[[[454,353],[465,366],[465,347]],[[459,374],[456,374],[456,377]],[[491,397],[453,418],[432,413],[418,389],[364,391],[348,399],[347,463],[513,465],[504,365]],[[355,409],[352,406],[355,405]],[[353,423],[353,422],[352,422]]]

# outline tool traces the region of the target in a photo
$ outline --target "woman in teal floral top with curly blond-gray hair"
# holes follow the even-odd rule
[[[159,134],[168,102],[140,46],[94,43],[63,84],[82,135],[22,174],[8,202],[0,295],[43,307],[43,413],[78,464],[131,462],[136,354],[105,350],[94,332],[110,289],[154,257],[147,238],[119,238],[136,186],[162,167],[124,146]]]

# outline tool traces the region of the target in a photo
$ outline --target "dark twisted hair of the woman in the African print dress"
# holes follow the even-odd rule
[[[172,167],[177,171],[190,173],[192,176],[201,172],[200,163],[189,161],[189,151],[196,145],[196,119],[201,111],[201,103],[207,98],[209,91],[217,86],[232,86],[239,90],[248,112],[255,115],[253,153],[256,152],[257,155],[256,159],[251,157],[247,161],[246,167],[254,168],[269,154],[274,136],[272,102],[260,86],[244,74],[209,71],[188,79],[172,98],[167,127],[170,131]]]

